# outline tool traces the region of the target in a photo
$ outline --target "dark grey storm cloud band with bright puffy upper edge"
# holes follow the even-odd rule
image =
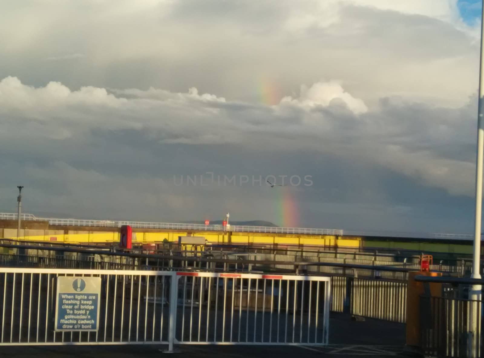
[[[362,102],[334,83],[270,107],[196,89],[127,90],[124,97],[120,90],[33,88],[7,78],[0,90],[4,182],[22,178],[30,188],[26,208],[35,212],[179,221],[236,210],[277,221],[267,175],[286,175],[286,183],[292,175],[311,177],[312,186],[287,187],[308,226],[369,229],[380,213],[393,229],[409,221],[423,229],[417,213],[424,208],[470,202],[473,138],[466,132],[474,105],[444,110],[389,99],[357,114]],[[461,155],[447,156],[451,148]],[[7,186],[1,191],[13,195]],[[347,214],[338,218],[331,208]]]

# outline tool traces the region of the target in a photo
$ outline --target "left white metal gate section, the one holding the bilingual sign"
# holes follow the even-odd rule
[[[54,331],[59,276],[101,277],[97,332]],[[171,272],[2,268],[0,344],[168,344],[171,280]]]

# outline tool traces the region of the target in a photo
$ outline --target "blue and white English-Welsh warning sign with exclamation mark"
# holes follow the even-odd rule
[[[58,277],[56,331],[99,329],[100,277]]]

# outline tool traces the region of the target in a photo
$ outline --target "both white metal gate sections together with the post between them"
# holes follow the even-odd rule
[[[98,331],[54,330],[59,276],[101,278]],[[329,277],[0,268],[0,345],[323,345],[330,293]]]

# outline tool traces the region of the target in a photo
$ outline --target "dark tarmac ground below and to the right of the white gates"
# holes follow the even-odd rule
[[[405,325],[367,318],[353,321],[348,315],[332,313],[330,344],[327,346],[284,345],[176,345],[173,354],[162,353],[163,345],[57,345],[1,346],[3,358],[151,358],[164,355],[183,358],[304,358],[334,356],[400,357],[405,346]]]

